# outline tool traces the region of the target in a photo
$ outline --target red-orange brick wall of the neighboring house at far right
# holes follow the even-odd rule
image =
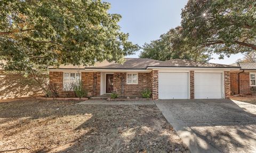
[[[231,94],[251,94],[250,73],[244,72],[239,74],[240,93],[238,89],[238,73],[230,73]]]

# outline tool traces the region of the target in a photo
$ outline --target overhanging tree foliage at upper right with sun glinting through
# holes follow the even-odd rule
[[[256,50],[256,2],[189,0],[181,13],[183,37],[190,46],[223,55]]]

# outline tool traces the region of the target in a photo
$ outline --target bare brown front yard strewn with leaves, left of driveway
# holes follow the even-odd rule
[[[189,152],[155,105],[0,101],[0,152]]]

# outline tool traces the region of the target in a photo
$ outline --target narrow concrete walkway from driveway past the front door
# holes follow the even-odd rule
[[[155,104],[153,100],[147,101],[107,101],[105,99],[92,99],[77,104],[110,104],[110,105],[133,105],[133,104]]]

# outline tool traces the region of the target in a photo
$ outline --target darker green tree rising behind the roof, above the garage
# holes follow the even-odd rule
[[[142,49],[140,58],[162,61],[170,59],[208,61],[210,59],[210,55],[202,53],[202,49],[191,52],[193,48],[186,45],[185,40],[182,38],[181,27],[171,29],[166,34],[161,35],[159,39],[145,43]]]

